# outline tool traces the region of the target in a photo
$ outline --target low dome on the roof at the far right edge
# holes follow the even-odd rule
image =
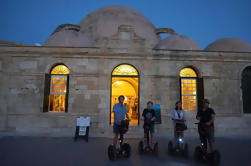
[[[251,52],[251,45],[236,38],[223,38],[209,44],[207,51]]]

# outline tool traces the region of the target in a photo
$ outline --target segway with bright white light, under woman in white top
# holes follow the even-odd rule
[[[183,133],[184,127],[182,127],[179,123],[175,125],[175,132],[178,135],[174,141],[168,142],[168,154],[169,155],[180,155],[187,157],[188,156],[188,144],[185,142]]]

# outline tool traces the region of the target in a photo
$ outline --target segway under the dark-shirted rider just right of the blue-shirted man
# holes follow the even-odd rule
[[[146,143],[146,146],[144,147],[144,142],[143,141],[140,141],[139,142],[139,145],[138,145],[138,151],[139,151],[139,154],[143,154],[143,153],[152,153],[154,154],[155,156],[158,156],[158,142],[154,143],[154,146],[152,147],[150,145],[150,141],[149,141],[149,134],[150,134],[150,125],[153,123],[153,121],[151,120],[148,120],[148,121],[145,121],[145,124],[144,124],[144,130],[146,132],[146,140],[147,140],[147,143]]]

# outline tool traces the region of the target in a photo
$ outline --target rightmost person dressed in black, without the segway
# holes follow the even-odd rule
[[[201,139],[202,138],[202,131],[207,132],[207,140],[209,144],[209,153],[213,152],[213,143],[214,143],[214,119],[215,119],[215,112],[212,108],[209,107],[209,100],[204,99],[203,101],[203,108],[202,110],[198,110],[196,119],[200,121],[199,125],[199,134]]]

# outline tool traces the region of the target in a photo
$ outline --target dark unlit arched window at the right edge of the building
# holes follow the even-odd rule
[[[246,67],[241,77],[243,112],[251,113],[251,66]]]

